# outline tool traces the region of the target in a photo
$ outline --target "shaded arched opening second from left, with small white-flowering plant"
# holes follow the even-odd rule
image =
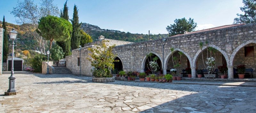
[[[144,65],[144,71],[147,71],[149,74],[152,74],[152,72],[150,71],[150,66],[149,66],[149,62],[150,61],[153,61],[153,58],[154,57],[158,57],[157,55],[153,54],[151,56],[151,60],[150,60],[150,56],[148,58],[146,58],[146,62],[145,62],[145,65]],[[149,61],[148,61],[149,60]],[[159,73],[163,73],[163,66],[162,66],[162,62],[161,62],[161,59],[158,57],[158,59],[156,60],[156,63],[157,65],[159,66],[159,69],[157,70],[158,72],[156,72],[156,74],[159,74]]]

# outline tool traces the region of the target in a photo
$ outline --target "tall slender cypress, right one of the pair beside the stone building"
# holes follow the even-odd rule
[[[72,31],[72,37],[71,37],[71,48],[72,50],[75,50],[79,47],[80,45],[80,26],[82,23],[79,23],[78,20],[78,10],[77,6],[74,6],[74,13],[73,13],[73,18],[71,20],[73,31]]]

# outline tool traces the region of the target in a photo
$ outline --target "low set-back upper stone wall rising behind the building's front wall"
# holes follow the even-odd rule
[[[102,40],[98,40],[98,41],[94,41],[92,43],[85,43],[84,44],[84,47],[86,46],[90,46],[90,45],[100,45],[101,41],[103,40],[108,40],[109,42],[107,43],[108,46],[112,46],[112,45],[124,45],[124,44],[129,44],[129,43],[132,43],[132,42],[127,42],[127,41],[120,41],[120,40],[112,40],[112,39],[107,39],[107,38],[104,38]]]

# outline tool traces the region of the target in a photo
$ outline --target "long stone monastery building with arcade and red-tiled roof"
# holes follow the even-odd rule
[[[195,78],[196,70],[204,68],[199,42],[208,41],[208,47],[218,50],[216,67],[227,65],[228,79],[233,79],[233,69],[237,69],[237,65],[243,64],[246,65],[246,69],[253,69],[253,76],[255,76],[256,23],[225,25],[195,32],[185,32],[165,39],[165,44],[163,39],[132,43],[105,39],[104,36],[100,36],[98,41],[84,44],[83,48],[72,50],[72,55],[66,56],[67,68],[73,74],[92,76],[91,63],[86,59],[90,57],[88,48],[93,48],[102,40],[109,40],[108,45],[116,44],[112,53],[116,54],[116,59],[120,60],[119,64],[115,64],[115,68],[119,70],[144,72],[147,70],[145,64],[148,62],[146,54],[151,52],[154,56],[159,57],[157,61],[160,67],[159,71],[164,66],[164,74],[166,74],[170,69],[173,69],[170,48],[174,48],[176,52],[173,56],[177,56],[182,69],[190,67],[192,78]],[[179,51],[184,53],[181,59],[178,54]],[[206,46],[204,46],[204,62],[206,61],[206,53]]]

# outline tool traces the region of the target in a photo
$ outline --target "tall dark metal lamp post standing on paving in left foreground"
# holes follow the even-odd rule
[[[10,39],[12,40],[12,68],[11,68],[11,76],[9,77],[9,89],[7,92],[4,92],[4,95],[16,95],[16,90],[15,90],[15,77],[14,77],[14,68],[13,68],[13,53],[14,53],[14,40],[16,40],[18,35],[18,32],[15,31],[14,28],[10,31]]]

